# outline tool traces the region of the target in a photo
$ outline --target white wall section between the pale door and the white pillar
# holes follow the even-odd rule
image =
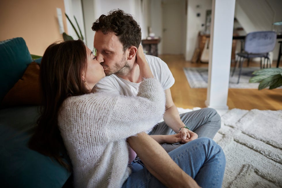
[[[197,5],[199,7],[197,8]],[[195,48],[197,47],[198,33],[202,30],[201,24],[205,24],[206,11],[212,9],[212,0],[189,0],[186,34],[186,53],[185,60],[192,59]],[[201,16],[197,17],[197,13]]]

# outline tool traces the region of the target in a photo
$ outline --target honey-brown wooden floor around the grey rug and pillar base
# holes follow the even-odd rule
[[[171,87],[172,99],[177,107],[204,108],[207,89],[191,89],[185,77],[183,67],[207,67],[205,63],[186,62],[183,55],[159,55],[171,70],[175,84]],[[247,64],[247,63],[244,63]],[[231,64],[234,66],[234,63]],[[251,62],[249,66],[259,66],[258,62]],[[273,62],[276,66],[276,62]],[[229,89],[227,105],[229,109],[245,110],[282,110],[282,89]]]

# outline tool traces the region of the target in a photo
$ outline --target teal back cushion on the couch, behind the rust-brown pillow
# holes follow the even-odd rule
[[[0,42],[0,101],[22,77],[31,62],[31,55],[22,37]]]

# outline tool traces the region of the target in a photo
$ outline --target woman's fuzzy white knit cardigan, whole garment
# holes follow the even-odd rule
[[[162,118],[159,81],[141,82],[137,97],[91,93],[68,97],[58,116],[75,187],[121,187],[131,173],[126,139],[149,131]]]

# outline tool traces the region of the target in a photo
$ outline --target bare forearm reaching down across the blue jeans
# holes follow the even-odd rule
[[[149,135],[142,132],[127,139],[149,172],[167,187],[199,187]]]

